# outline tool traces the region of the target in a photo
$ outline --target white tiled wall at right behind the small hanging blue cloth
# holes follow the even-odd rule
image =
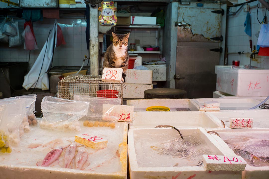
[[[243,0],[239,0],[239,3],[245,2]],[[248,3],[248,5],[255,6],[259,3],[259,1]],[[237,7],[236,10],[239,9],[240,6]],[[244,7],[243,7],[244,8]],[[250,54],[237,54],[237,52],[250,53],[250,45],[249,40],[252,39],[252,46],[257,45],[258,38],[256,37],[256,32],[260,30],[260,23],[263,20],[263,17],[266,13],[266,8],[251,8],[250,9],[250,21],[251,21],[251,37],[245,33],[244,22],[246,20],[247,12],[244,12],[243,8],[234,16],[228,17],[228,29],[227,29],[227,46],[228,46],[228,65],[232,64],[233,60],[240,60],[240,65],[247,65],[250,63]],[[257,10],[258,10],[258,18],[257,20]],[[267,17],[269,12],[267,12]],[[267,56],[258,56],[255,55],[255,59],[257,61],[252,60],[252,65],[269,69],[269,57]]]

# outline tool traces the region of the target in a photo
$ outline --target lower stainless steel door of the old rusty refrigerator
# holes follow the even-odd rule
[[[210,46],[182,44],[176,47],[176,88],[187,91],[187,98],[212,97],[216,89],[215,65],[219,64],[219,52],[210,51],[218,48],[217,43]]]

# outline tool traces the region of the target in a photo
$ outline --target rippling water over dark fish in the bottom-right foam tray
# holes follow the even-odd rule
[[[252,132],[244,133],[244,136],[219,134],[236,155],[242,156],[250,166],[269,166],[269,133]]]

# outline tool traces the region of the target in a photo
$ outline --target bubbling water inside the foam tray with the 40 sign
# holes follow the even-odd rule
[[[202,155],[212,152],[198,133],[191,136],[171,134],[135,135],[138,167],[201,166]]]

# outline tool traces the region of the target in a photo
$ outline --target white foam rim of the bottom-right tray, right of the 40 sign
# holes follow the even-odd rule
[[[240,136],[246,136],[246,133],[251,132],[260,132],[261,135],[263,133],[269,133],[269,129],[214,129],[215,132],[227,132],[231,135],[240,135]],[[251,134],[250,134],[251,135]],[[215,140],[221,145],[221,147],[229,154],[234,154],[232,149],[228,147],[228,145],[217,135],[211,134],[212,137],[215,138]],[[268,179],[269,176],[269,166],[264,167],[254,167],[247,164],[245,170],[242,172],[242,178],[244,179]]]

